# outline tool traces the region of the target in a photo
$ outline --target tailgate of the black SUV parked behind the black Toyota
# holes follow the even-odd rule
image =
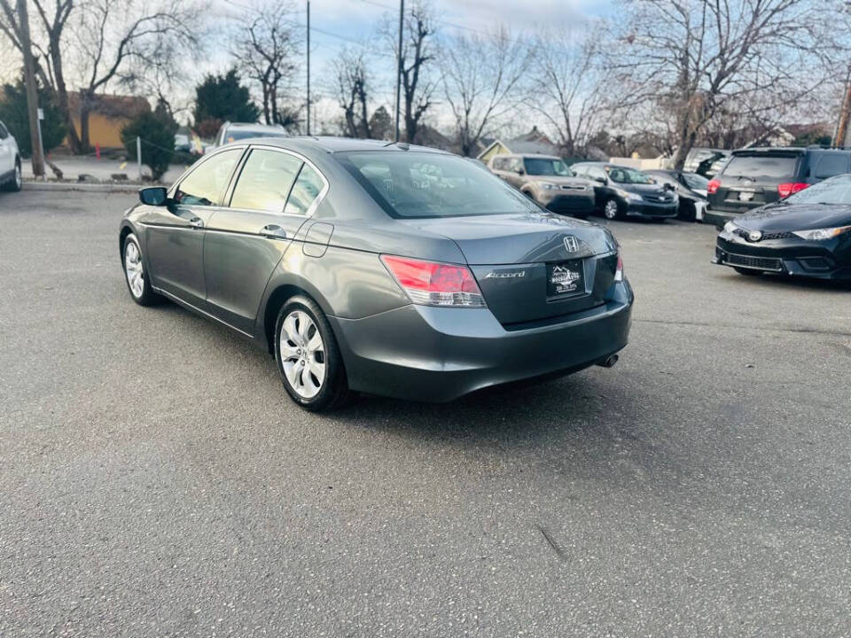
[[[778,184],[798,179],[802,151],[737,152],[718,175],[720,185],[711,196],[716,210],[729,213],[747,211],[776,202]]]

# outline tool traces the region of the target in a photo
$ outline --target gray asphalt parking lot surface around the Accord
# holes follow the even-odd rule
[[[131,204],[0,195],[0,635],[851,633],[847,288],[615,222],[613,369],[316,416],[129,299]]]

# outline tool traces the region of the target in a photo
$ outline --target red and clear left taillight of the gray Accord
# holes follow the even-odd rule
[[[410,300],[426,306],[486,306],[469,268],[381,255],[381,261],[393,274]]]

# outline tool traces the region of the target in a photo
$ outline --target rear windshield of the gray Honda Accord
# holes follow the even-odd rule
[[[431,152],[347,152],[337,155],[391,217],[540,212],[495,175],[454,155]]]

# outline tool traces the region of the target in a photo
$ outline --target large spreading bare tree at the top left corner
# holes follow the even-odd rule
[[[74,152],[89,148],[89,113],[95,95],[113,82],[156,68],[174,77],[184,55],[201,49],[205,5],[182,0],[31,0],[39,17],[33,29],[36,72],[56,96]],[[20,26],[12,0],[0,0],[0,31],[20,50]],[[80,134],[68,97],[66,67],[80,91]]]

